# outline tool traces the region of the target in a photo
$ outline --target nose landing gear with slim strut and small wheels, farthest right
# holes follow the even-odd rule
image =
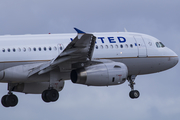
[[[131,88],[131,91],[129,92],[129,97],[132,99],[138,98],[140,96],[140,93],[138,90],[134,90],[135,80],[136,76],[132,75],[128,77],[129,86]]]

